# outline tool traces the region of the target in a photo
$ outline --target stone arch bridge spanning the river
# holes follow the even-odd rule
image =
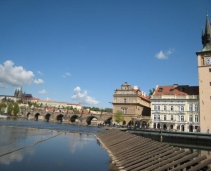
[[[109,114],[73,114],[67,112],[22,111],[22,117],[30,120],[45,120],[47,122],[78,123],[82,125],[97,125],[111,123],[112,113]]]

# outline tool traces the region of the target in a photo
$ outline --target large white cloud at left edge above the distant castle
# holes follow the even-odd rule
[[[23,86],[30,84],[33,80],[34,74],[32,71],[26,71],[22,66],[13,66],[14,63],[10,60],[0,65],[0,84]]]

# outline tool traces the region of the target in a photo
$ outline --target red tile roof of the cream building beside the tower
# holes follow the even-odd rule
[[[157,86],[153,95],[199,95],[199,86]]]

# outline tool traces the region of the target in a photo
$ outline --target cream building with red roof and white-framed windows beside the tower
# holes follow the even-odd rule
[[[157,86],[151,96],[151,128],[199,131],[199,87]]]

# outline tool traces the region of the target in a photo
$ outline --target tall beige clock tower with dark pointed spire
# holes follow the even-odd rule
[[[196,52],[199,76],[200,130],[203,133],[211,133],[211,26],[208,14],[205,29],[202,30],[202,44],[202,50]]]

